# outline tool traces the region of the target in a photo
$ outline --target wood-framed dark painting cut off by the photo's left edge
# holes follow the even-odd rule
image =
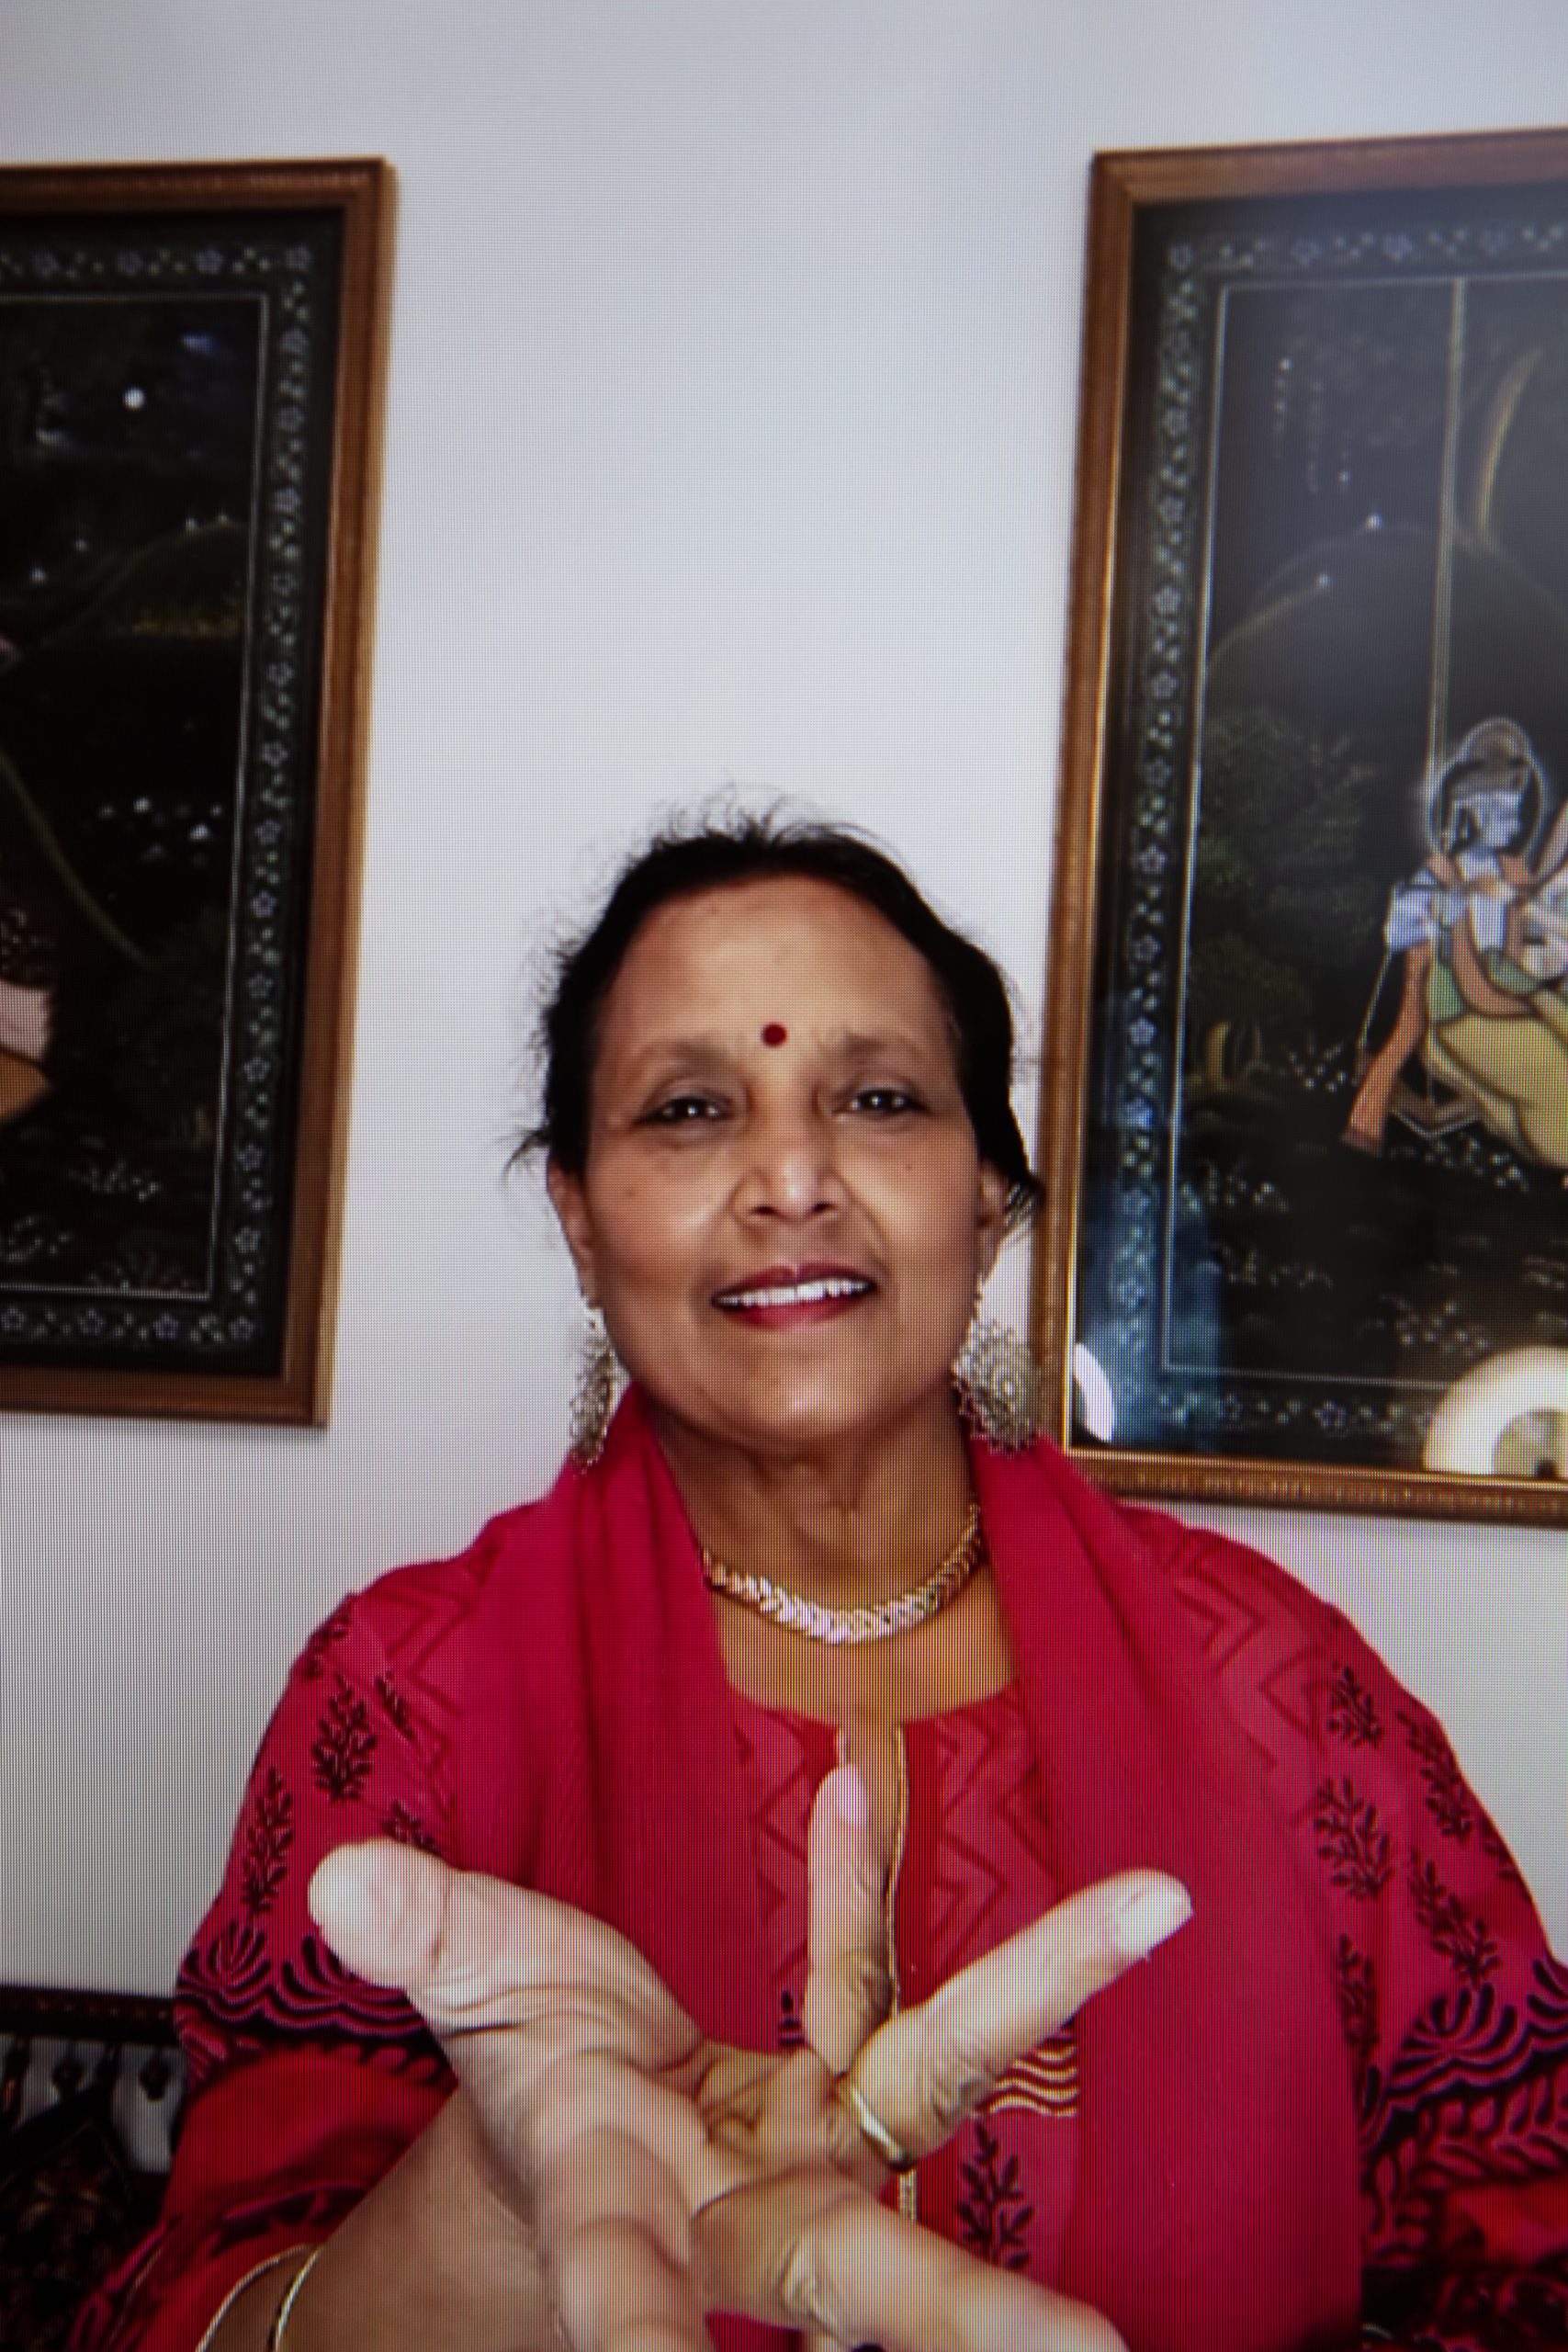
[[[390,193],[0,172],[0,1406],[327,1411]]]

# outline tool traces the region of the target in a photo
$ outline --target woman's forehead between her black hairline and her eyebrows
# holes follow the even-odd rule
[[[886,915],[813,875],[769,875],[656,908],[611,983],[602,1042],[790,1016],[950,1035],[931,967]]]

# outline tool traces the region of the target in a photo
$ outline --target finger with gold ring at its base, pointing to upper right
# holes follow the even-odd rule
[[[1192,1917],[1180,1879],[1098,1879],[889,2018],[853,2063],[865,2103],[912,2157],[940,2147],[1016,2058],[1058,2032]]]

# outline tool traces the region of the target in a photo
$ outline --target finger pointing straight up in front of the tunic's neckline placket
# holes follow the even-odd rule
[[[882,1910],[882,1856],[865,1780],[853,1764],[823,1778],[806,1832],[809,1966],[802,2025],[835,2074],[882,2025],[893,1985]]]

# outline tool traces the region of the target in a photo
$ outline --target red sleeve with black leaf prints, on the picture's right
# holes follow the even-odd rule
[[[1568,1969],[1443,1729],[1241,1545],[1173,1573],[1324,1889],[1359,2096],[1368,2343],[1568,2345]]]

